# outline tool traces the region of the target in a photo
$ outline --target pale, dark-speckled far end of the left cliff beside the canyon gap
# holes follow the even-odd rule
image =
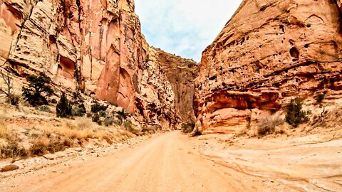
[[[139,83],[138,109],[149,124],[175,129],[175,93],[162,70],[157,50],[149,48]]]

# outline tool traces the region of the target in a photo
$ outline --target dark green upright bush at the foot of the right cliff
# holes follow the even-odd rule
[[[290,104],[286,107],[286,122],[294,127],[299,124],[309,122],[309,115],[311,111],[302,110],[303,101],[300,98],[291,100]]]

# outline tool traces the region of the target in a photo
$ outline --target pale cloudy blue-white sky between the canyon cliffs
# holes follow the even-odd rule
[[[135,0],[147,42],[200,61],[242,0]]]

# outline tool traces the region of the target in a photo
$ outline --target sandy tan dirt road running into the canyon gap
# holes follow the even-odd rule
[[[180,132],[71,165],[6,178],[1,191],[294,191],[203,159]]]

